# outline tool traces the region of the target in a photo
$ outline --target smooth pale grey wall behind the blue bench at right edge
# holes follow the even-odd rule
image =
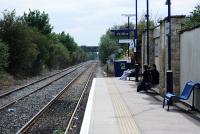
[[[180,85],[186,81],[200,82],[200,27],[180,34]],[[190,97],[188,103],[192,104]],[[195,90],[195,106],[200,110],[200,89]]]

